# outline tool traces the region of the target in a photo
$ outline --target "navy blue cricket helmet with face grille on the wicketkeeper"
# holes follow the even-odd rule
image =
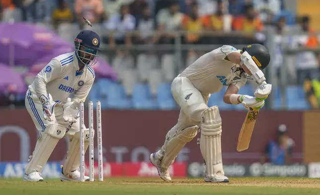
[[[75,39],[78,60],[85,65],[94,65],[100,51],[100,37],[92,30],[82,30]]]

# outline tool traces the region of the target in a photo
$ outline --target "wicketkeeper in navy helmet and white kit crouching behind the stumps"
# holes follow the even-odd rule
[[[43,181],[41,171],[65,135],[70,140],[61,181],[80,181],[79,103],[93,85],[92,65],[100,47],[98,34],[83,30],[75,39],[75,51],[53,58],[28,87],[25,106],[40,136],[25,167],[24,181]],[[85,134],[88,129],[84,130]],[[85,150],[89,140],[85,136]],[[64,151],[63,151],[64,152]],[[86,181],[89,177],[85,176]]]

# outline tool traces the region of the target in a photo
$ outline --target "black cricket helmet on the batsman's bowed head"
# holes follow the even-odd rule
[[[242,48],[242,52],[248,52],[252,60],[263,70],[270,63],[270,53],[266,47],[260,44],[247,45]]]

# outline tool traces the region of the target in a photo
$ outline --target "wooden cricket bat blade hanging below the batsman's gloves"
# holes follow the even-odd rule
[[[259,110],[249,110],[246,113],[245,119],[242,123],[241,130],[238,137],[237,151],[241,152],[249,148],[253,128],[257,119]]]

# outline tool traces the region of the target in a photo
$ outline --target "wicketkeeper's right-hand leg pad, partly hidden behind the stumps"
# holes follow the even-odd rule
[[[93,136],[94,136],[94,131]],[[84,153],[89,146],[89,129],[84,130]],[[63,166],[63,173],[65,175],[71,173],[79,169],[80,166],[80,132],[78,131],[73,136],[72,140],[70,141],[67,159]]]

